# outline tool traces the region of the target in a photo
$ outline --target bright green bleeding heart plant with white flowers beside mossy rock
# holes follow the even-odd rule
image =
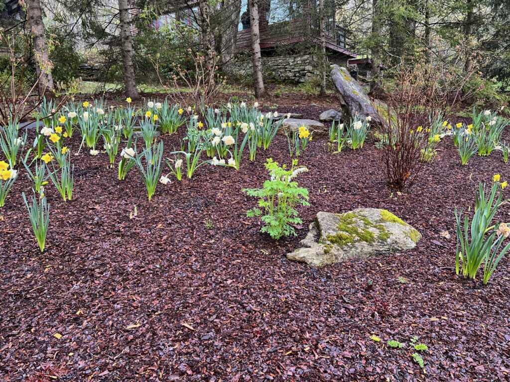
[[[268,233],[273,239],[282,236],[295,235],[293,224],[301,224],[297,205],[309,206],[308,189],[299,187],[294,180],[299,174],[307,172],[303,166],[297,166],[297,159],[292,161],[292,167],[280,167],[278,162],[268,158],[265,163],[270,179],[264,181],[263,188],[245,188],[248,196],[259,198],[259,207],[247,212],[247,216],[262,216],[264,227],[261,231]],[[263,213],[265,213],[263,215]]]

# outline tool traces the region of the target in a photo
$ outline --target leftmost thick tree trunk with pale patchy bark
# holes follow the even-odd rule
[[[39,96],[52,98],[54,96],[52,68],[53,64],[49,61],[49,49],[46,44],[44,23],[42,21],[42,9],[39,0],[27,0],[27,12],[30,26],[32,27],[32,37],[34,41],[34,53],[36,61],[36,73],[39,78],[38,90]]]

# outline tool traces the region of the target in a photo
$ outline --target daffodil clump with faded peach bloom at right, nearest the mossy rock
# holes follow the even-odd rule
[[[503,240],[510,234],[510,229],[504,223],[498,225],[498,230],[495,230],[495,225],[492,225],[494,216],[503,203],[500,188],[504,188],[505,185],[506,182],[500,184],[499,175],[495,175],[494,184],[490,192],[486,194],[485,185],[479,183],[475,213],[471,222],[466,214],[463,224],[463,210],[457,212],[455,208],[457,223],[455,271],[457,275],[462,272],[463,276],[475,279],[478,268],[484,262],[483,284],[487,284],[501,258],[510,250],[510,242],[501,248]]]

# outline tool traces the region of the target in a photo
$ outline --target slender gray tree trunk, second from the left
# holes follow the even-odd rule
[[[131,20],[127,0],[119,0],[119,18],[126,97],[140,99],[136,89],[135,68],[133,65],[133,38],[131,36]]]

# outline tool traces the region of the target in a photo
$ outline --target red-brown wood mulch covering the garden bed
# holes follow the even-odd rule
[[[317,118],[323,110],[282,111]],[[163,137],[166,153],[183,133]],[[119,182],[106,154],[82,151],[73,156],[74,199],[46,187],[43,254],[21,171],[0,210],[0,379],[507,380],[510,261],[487,286],[454,274],[453,208],[472,206],[478,181],[510,179],[500,154],[462,167],[446,140],[411,192],[398,195],[373,144],[340,154],[325,144],[314,139],[299,158],[310,170],[298,180],[311,206],[299,208],[298,237],[280,241],[246,217],[256,200],[241,189],[261,186],[267,157],[290,162],[281,135],[255,162],[246,150],[240,171],[202,166],[191,180],[159,184],[151,202],[136,169]],[[72,151],[78,146],[77,133]],[[423,239],[409,252],[320,269],[286,259],[318,211],[358,207],[389,209]],[[506,208],[499,217],[509,216]],[[425,370],[412,360],[414,336],[428,346]],[[391,339],[405,347],[389,348]]]

